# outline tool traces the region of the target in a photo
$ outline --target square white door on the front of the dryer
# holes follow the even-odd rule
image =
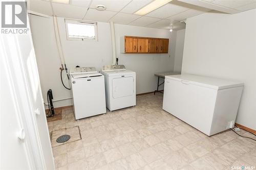
[[[115,78],[112,80],[113,98],[133,95],[133,77]]]

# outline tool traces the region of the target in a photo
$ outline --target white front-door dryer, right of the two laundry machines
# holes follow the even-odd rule
[[[117,110],[136,105],[136,72],[124,65],[104,65],[106,107]]]

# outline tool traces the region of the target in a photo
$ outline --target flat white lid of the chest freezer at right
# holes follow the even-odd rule
[[[165,78],[181,81],[184,84],[195,84],[195,85],[217,89],[217,90],[244,86],[244,83],[241,83],[241,82],[234,82],[234,81],[225,80],[225,79],[216,79],[216,78],[189,75],[189,74],[169,75],[169,76],[165,76]]]

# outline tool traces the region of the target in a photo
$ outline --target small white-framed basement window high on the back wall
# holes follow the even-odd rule
[[[68,40],[97,41],[97,23],[65,19]]]

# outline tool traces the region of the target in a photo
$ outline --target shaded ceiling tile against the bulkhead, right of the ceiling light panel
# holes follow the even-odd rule
[[[167,19],[183,21],[183,20],[185,20],[185,19],[187,19],[187,18],[190,18],[190,17],[193,17],[193,16],[197,16],[197,15],[203,14],[203,13],[205,13],[205,12],[207,12],[207,11],[208,11],[208,10],[204,10],[204,11],[203,11],[203,10],[190,9],[190,10],[181,12],[181,13],[179,13],[179,14],[170,16],[170,17],[168,17]]]

